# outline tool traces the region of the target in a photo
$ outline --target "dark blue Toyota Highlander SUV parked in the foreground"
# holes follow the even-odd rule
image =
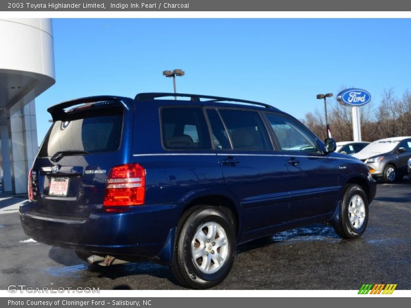
[[[367,166],[270,105],[141,93],[48,111],[21,223],[90,263],[152,259],[208,288],[230,272],[237,244],[315,222],[346,239],[367,226]]]

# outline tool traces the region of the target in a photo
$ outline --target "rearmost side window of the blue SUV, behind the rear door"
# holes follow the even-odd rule
[[[161,129],[166,149],[211,149],[209,131],[201,108],[162,108]]]

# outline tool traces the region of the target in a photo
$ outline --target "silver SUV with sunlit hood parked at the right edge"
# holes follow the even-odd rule
[[[407,174],[407,161],[411,158],[411,137],[377,140],[352,156],[367,164],[373,178],[394,183]]]

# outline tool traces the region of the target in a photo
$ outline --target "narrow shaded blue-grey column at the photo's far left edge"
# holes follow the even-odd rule
[[[0,146],[2,148],[2,165],[0,166],[2,189],[3,191],[12,191],[13,186],[11,184],[9,121],[0,125]]]

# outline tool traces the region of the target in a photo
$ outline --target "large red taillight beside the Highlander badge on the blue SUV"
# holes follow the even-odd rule
[[[104,206],[142,205],[145,195],[145,170],[139,164],[115,166],[107,178]]]

